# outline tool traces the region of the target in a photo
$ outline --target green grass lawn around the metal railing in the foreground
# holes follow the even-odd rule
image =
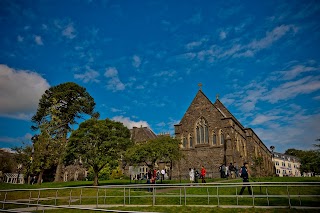
[[[225,182],[222,179],[209,179],[210,182]],[[228,180],[227,182],[241,182],[240,179]],[[320,182],[319,177],[312,178],[295,178],[295,177],[270,177],[270,178],[260,178],[252,179],[251,182]],[[147,185],[138,186],[132,189],[124,189],[126,185],[130,184],[130,180],[106,180],[101,181],[101,186],[107,186],[106,188],[92,188],[92,181],[76,181],[76,182],[63,182],[63,183],[43,183],[41,185],[15,185],[15,184],[0,184],[0,200],[4,200],[5,190],[10,189],[22,189],[20,191],[8,192],[6,195],[6,200],[17,200],[21,199],[21,202],[28,203],[29,198],[34,198],[34,201],[30,203],[36,204],[36,199],[40,199],[39,203],[46,205],[92,205],[97,202],[99,205],[121,205],[124,203],[123,195],[126,195],[125,203],[128,205],[152,205],[153,203],[153,193],[148,192],[146,187]],[[143,182],[144,183],[144,182]],[[166,184],[180,183],[180,181],[165,181]],[[188,183],[188,181],[182,181],[182,183]],[[132,183],[134,185],[134,183]],[[142,184],[142,183],[141,183]],[[111,185],[123,186],[123,188],[112,188]],[[77,186],[88,186],[86,188],[77,188]],[[160,184],[159,184],[160,186]],[[68,187],[68,188],[62,188]],[[70,187],[70,188],[69,188]],[[42,189],[42,188],[47,188]],[[60,188],[60,189],[55,189]],[[61,189],[62,188],[62,189]],[[34,189],[24,191],[23,189]],[[224,186],[217,188],[215,185],[209,186],[186,186],[185,188],[171,188],[171,189],[157,189],[156,190],[156,205],[182,205],[179,207],[112,207],[112,209],[118,210],[131,210],[131,211],[159,211],[159,212],[314,212],[314,210],[289,210],[289,209],[224,209],[224,208],[211,208],[206,207],[207,205],[252,205],[252,197],[243,197],[236,199],[236,195],[239,193],[241,187],[236,186]],[[219,200],[217,197],[217,190],[219,193]],[[266,198],[255,197],[255,205],[267,206],[268,201],[269,205],[288,205],[288,191],[291,196],[293,195],[320,195],[320,186],[314,187],[281,187],[277,186],[262,186],[262,187],[253,187],[254,195],[283,195],[283,198],[272,198],[269,200]],[[130,198],[129,198],[130,193]],[[71,200],[70,200],[71,195]],[[98,195],[98,200],[97,200]],[[163,197],[161,197],[163,195]],[[186,196],[185,196],[186,195]],[[194,197],[196,195],[196,197]],[[248,195],[247,190],[245,190],[244,195]],[[60,197],[63,199],[55,199],[55,197]],[[170,196],[170,197],[165,197]],[[223,197],[226,196],[226,197]],[[51,197],[50,199],[47,199]],[[197,205],[197,207],[192,206],[183,206],[184,202],[187,205]],[[291,205],[299,206],[302,202],[303,206],[320,206],[320,198],[291,198]],[[21,205],[6,204],[5,208],[19,208]],[[277,210],[277,211],[275,211]],[[46,212],[81,212],[80,210],[67,210],[67,209],[55,209],[55,210],[46,210]],[[88,212],[88,211],[85,211]]]

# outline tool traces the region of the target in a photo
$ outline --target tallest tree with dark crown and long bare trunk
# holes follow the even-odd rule
[[[97,117],[94,113],[95,102],[85,88],[73,82],[67,82],[53,86],[42,95],[38,110],[32,117],[33,130],[41,130],[43,124],[50,127],[49,134],[53,138],[61,139],[63,144],[60,153],[64,153],[67,143],[67,135],[71,131],[71,125],[77,123],[77,119],[83,114]],[[43,131],[43,130],[41,130]],[[46,130],[45,130],[46,131]],[[48,131],[47,131],[48,132]],[[61,181],[62,155],[59,158],[55,181]]]

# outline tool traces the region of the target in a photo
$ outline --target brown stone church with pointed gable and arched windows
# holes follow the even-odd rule
[[[245,128],[218,98],[212,103],[201,89],[174,127],[184,155],[175,163],[175,178],[186,178],[189,168],[200,171],[202,165],[207,177],[219,177],[221,164],[235,162],[238,166],[248,162],[256,175],[273,173],[271,152],[258,135],[251,128]],[[261,165],[255,164],[257,157],[263,159]]]

